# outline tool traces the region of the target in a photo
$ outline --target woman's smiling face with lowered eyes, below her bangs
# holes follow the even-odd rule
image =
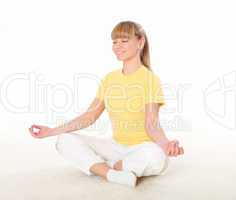
[[[140,48],[142,48],[142,41],[137,37],[117,38],[113,40],[112,50],[118,60],[124,61],[139,56]]]

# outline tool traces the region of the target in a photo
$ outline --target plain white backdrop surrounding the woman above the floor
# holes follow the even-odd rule
[[[55,138],[36,140],[28,127],[54,126],[89,106],[96,81],[122,66],[111,50],[112,28],[132,20],[147,33],[152,69],[164,87],[161,118],[174,123],[163,125],[166,134],[181,141],[186,157],[189,150],[192,159],[227,160],[229,177],[235,177],[230,161],[236,153],[235,10],[229,0],[1,1],[1,168],[28,170],[19,156],[27,155],[24,163],[34,167],[39,158],[43,165],[43,152],[55,156],[50,153]],[[78,75],[85,77],[79,83]],[[176,127],[175,117],[183,124]],[[106,112],[99,121],[104,129],[81,132],[111,134]]]

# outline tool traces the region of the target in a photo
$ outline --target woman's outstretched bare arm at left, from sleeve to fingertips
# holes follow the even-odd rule
[[[104,109],[104,101],[95,98],[86,112],[69,121],[68,123],[55,128],[49,128],[41,125],[32,125],[29,131],[32,136],[43,138],[47,136],[55,136],[61,133],[69,133],[72,131],[80,130],[93,124],[102,114]],[[39,131],[35,132],[33,128],[39,129]]]

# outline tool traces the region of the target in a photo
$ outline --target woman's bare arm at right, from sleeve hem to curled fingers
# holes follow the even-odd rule
[[[160,104],[148,103],[145,105],[145,129],[150,138],[156,142],[167,155],[177,156],[183,154],[182,147],[178,147],[178,141],[170,141],[164,133],[159,122]]]

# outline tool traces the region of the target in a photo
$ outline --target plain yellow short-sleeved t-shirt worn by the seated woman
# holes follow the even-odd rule
[[[122,68],[111,71],[101,80],[96,97],[104,100],[115,141],[125,145],[151,141],[145,130],[145,104],[165,104],[160,79],[154,72],[144,65],[127,75]]]

